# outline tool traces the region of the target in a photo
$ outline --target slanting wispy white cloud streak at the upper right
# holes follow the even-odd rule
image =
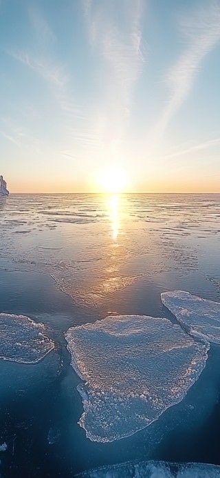
[[[208,2],[204,8],[199,6],[199,10],[190,12],[187,18],[180,19],[180,26],[187,47],[166,74],[165,81],[170,95],[155,128],[157,135],[164,132],[170,119],[187,99],[203,59],[220,40],[219,1]]]

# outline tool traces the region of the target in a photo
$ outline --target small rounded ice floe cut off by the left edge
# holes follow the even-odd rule
[[[0,314],[0,358],[21,364],[36,364],[54,348],[43,323],[25,315]]]

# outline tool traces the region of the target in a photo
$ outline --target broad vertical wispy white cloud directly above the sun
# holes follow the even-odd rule
[[[84,1],[92,54],[102,77],[103,101],[95,115],[102,148],[119,146],[129,121],[133,90],[144,63],[142,8],[141,0]]]

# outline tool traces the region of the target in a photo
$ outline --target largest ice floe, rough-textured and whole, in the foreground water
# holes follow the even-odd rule
[[[72,366],[84,384],[80,426],[92,441],[133,435],[177,404],[203,370],[208,343],[168,319],[107,317],[69,328]]]

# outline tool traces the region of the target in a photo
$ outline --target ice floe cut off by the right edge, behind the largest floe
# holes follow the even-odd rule
[[[220,302],[201,299],[182,290],[163,292],[161,298],[191,335],[220,343]]]

